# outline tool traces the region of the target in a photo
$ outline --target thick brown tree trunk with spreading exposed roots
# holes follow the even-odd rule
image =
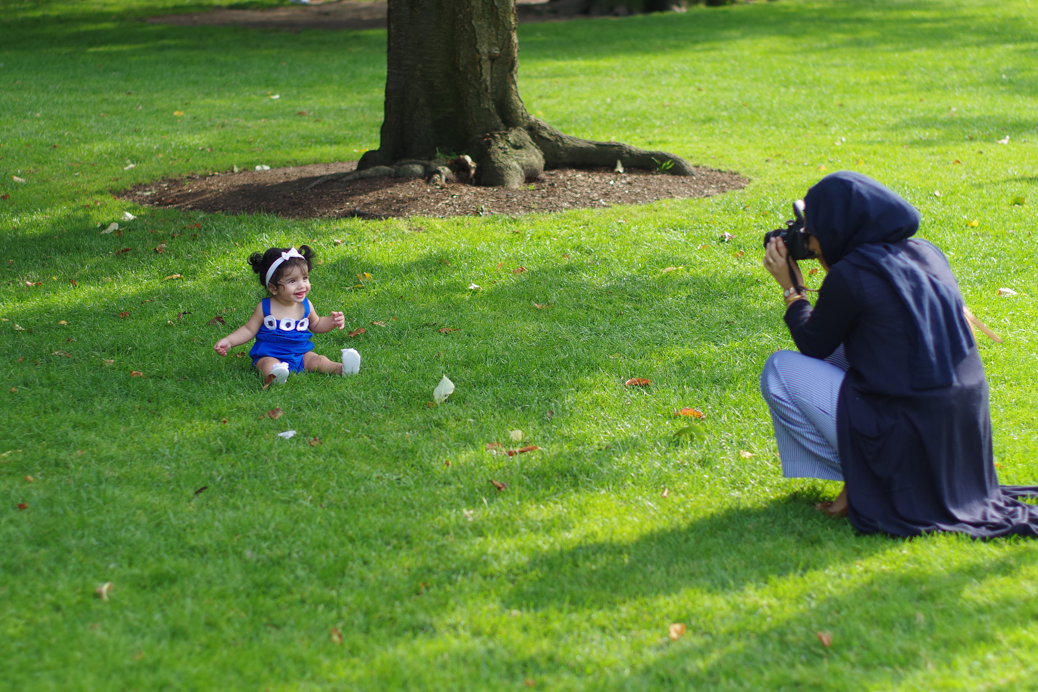
[[[389,0],[381,143],[349,177],[445,175],[462,155],[480,185],[513,189],[545,167],[618,161],[692,174],[672,154],[571,137],[532,117],[516,86],[516,26],[515,0]]]

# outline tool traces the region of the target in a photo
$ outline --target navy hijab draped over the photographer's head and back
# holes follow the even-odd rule
[[[919,229],[916,207],[852,171],[826,175],[803,202],[807,230],[818,239],[826,262],[848,261],[878,274],[901,297],[916,327],[908,356],[912,388],[951,385],[955,366],[974,347],[973,333],[958,290],[925,272],[905,252],[903,241]]]

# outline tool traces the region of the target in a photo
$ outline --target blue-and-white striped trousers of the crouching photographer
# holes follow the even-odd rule
[[[843,480],[837,444],[837,402],[847,370],[843,345],[825,360],[776,351],[761,372],[771,410],[782,473],[787,478]]]

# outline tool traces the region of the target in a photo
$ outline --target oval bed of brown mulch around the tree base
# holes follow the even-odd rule
[[[370,177],[328,182],[307,190],[323,175],[350,171],[355,161],[291,166],[271,170],[225,171],[137,185],[116,193],[142,205],[168,209],[274,214],[289,219],[360,217],[521,215],[565,212],[658,199],[710,197],[744,188],[736,173],[696,168],[695,174],[666,175],[646,170],[623,173],[608,168],[546,170],[520,190],[466,183],[436,185],[420,177]]]

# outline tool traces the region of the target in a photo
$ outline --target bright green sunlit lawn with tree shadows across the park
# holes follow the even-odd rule
[[[822,166],[861,170],[919,206],[1005,337],[980,347],[1000,476],[1038,479],[1032,2],[524,25],[532,112],[749,187],[385,222],[110,194],[356,158],[377,144],[383,32],[128,19],[194,8],[160,2],[4,7],[3,689],[1034,689],[1036,546],[862,537],[823,519],[812,503],[837,485],[781,477],[757,388],[790,348],[761,234]],[[139,218],[122,237],[99,232],[124,211]],[[323,259],[318,309],[368,330],[316,336],[318,351],[356,347],[364,363],[260,391],[247,359],[211,347],[257,299],[247,254],[302,242]],[[217,314],[226,327],[207,325]],[[444,373],[457,390],[428,408]],[[706,413],[707,441],[673,441],[682,406]],[[543,450],[484,450],[516,428]],[[676,642],[672,622],[688,627]]]

